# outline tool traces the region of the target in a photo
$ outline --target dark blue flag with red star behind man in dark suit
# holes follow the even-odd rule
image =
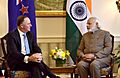
[[[36,40],[36,18],[34,0],[8,0],[9,32],[17,28],[17,17],[28,16],[31,20],[31,31]]]

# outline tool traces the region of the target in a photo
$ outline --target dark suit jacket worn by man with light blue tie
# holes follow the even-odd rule
[[[41,53],[41,49],[38,47],[31,32],[27,32],[27,38],[30,46],[29,55],[33,53]],[[17,29],[9,33],[7,38],[7,52],[7,61],[11,69],[14,69],[15,66],[19,66],[24,63],[25,55],[21,53],[21,40]]]

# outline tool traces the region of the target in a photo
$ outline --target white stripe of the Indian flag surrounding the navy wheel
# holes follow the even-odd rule
[[[87,23],[87,19],[90,17],[90,12],[88,10],[88,7],[86,5],[86,15],[87,18],[83,21],[76,21],[75,19],[72,18],[71,14],[70,14],[70,7],[71,5],[73,5],[74,2],[76,1],[83,1],[85,2],[85,0],[67,0],[67,6],[66,6],[66,10],[67,13],[69,14],[69,16],[71,17],[71,19],[73,20],[73,22],[76,24],[76,26],[78,27],[78,29],[80,30],[81,34],[84,34],[87,32],[87,27],[86,27],[86,23]],[[86,2],[85,2],[86,3]],[[79,5],[79,4],[78,4]],[[83,6],[83,5],[82,5]]]

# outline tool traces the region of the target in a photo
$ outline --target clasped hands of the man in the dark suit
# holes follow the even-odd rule
[[[28,58],[29,61],[40,63],[42,61],[41,53],[34,53]]]

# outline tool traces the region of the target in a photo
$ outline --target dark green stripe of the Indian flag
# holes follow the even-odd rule
[[[71,58],[74,63],[76,61],[77,49],[80,44],[82,34],[66,13],[66,49],[70,51]]]

